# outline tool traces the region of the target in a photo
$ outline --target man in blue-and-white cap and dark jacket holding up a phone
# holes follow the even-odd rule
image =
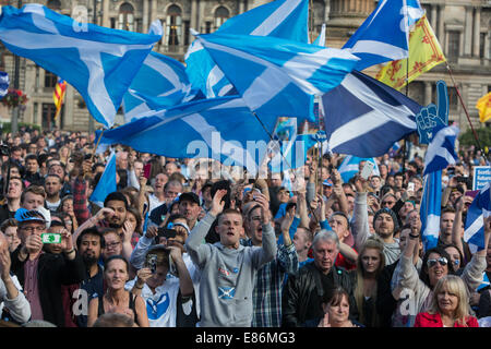
[[[84,279],[85,266],[76,252],[69,231],[61,233],[62,253],[43,251],[41,234],[47,232],[49,213],[44,207],[37,209],[19,208],[21,244],[12,254],[12,272],[24,288],[31,304],[32,320],[44,320],[58,327],[64,326],[61,285],[77,284]]]

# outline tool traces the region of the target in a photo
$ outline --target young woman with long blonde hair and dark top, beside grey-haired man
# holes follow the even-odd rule
[[[367,327],[378,327],[376,285],[385,265],[384,244],[378,236],[371,236],[361,246],[357,258],[355,300],[359,322]]]

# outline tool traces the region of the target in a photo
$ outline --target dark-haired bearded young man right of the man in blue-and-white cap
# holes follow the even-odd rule
[[[96,227],[83,230],[76,239],[76,248],[86,269],[85,278],[80,284],[79,300],[72,309],[76,313],[75,318],[79,327],[87,327],[87,313],[84,313],[83,310],[87,309],[94,297],[104,293],[104,270],[97,262],[105,246],[103,234]]]

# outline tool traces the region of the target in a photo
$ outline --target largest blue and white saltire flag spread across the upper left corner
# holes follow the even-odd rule
[[[75,87],[95,120],[110,128],[143,61],[161,37],[79,23],[37,3],[3,7],[0,40]]]

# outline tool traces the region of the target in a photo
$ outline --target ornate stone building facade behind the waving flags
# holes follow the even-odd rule
[[[20,0],[10,1],[17,5]],[[96,22],[111,28],[146,33],[149,24],[160,20],[161,40],[155,50],[182,60],[193,37],[190,29],[214,32],[227,19],[242,13],[264,0],[48,0],[39,2],[79,21]],[[3,3],[9,3],[3,0]],[[476,127],[479,123],[475,108],[478,98],[491,91],[491,1],[488,0],[421,0],[428,19],[439,38],[467,111]],[[326,46],[342,47],[356,28],[373,11],[373,0],[311,0],[311,38],[315,39],[326,23]],[[94,15],[94,8],[96,9]],[[70,85],[61,116],[53,121],[52,93],[57,76],[21,58],[20,87],[29,96],[20,122],[35,123],[44,129],[55,124],[64,130],[88,131],[89,116],[80,94]],[[0,44],[0,70],[11,80],[13,56]],[[367,73],[373,75],[375,68]],[[450,86],[450,120],[462,129],[468,127],[465,110],[457,99],[457,89],[445,64],[422,74],[409,85],[408,94],[422,105],[434,101],[435,82],[444,80]],[[3,121],[10,120],[9,110],[0,107]],[[119,115],[117,121],[122,121]],[[96,128],[98,124],[96,123]]]

